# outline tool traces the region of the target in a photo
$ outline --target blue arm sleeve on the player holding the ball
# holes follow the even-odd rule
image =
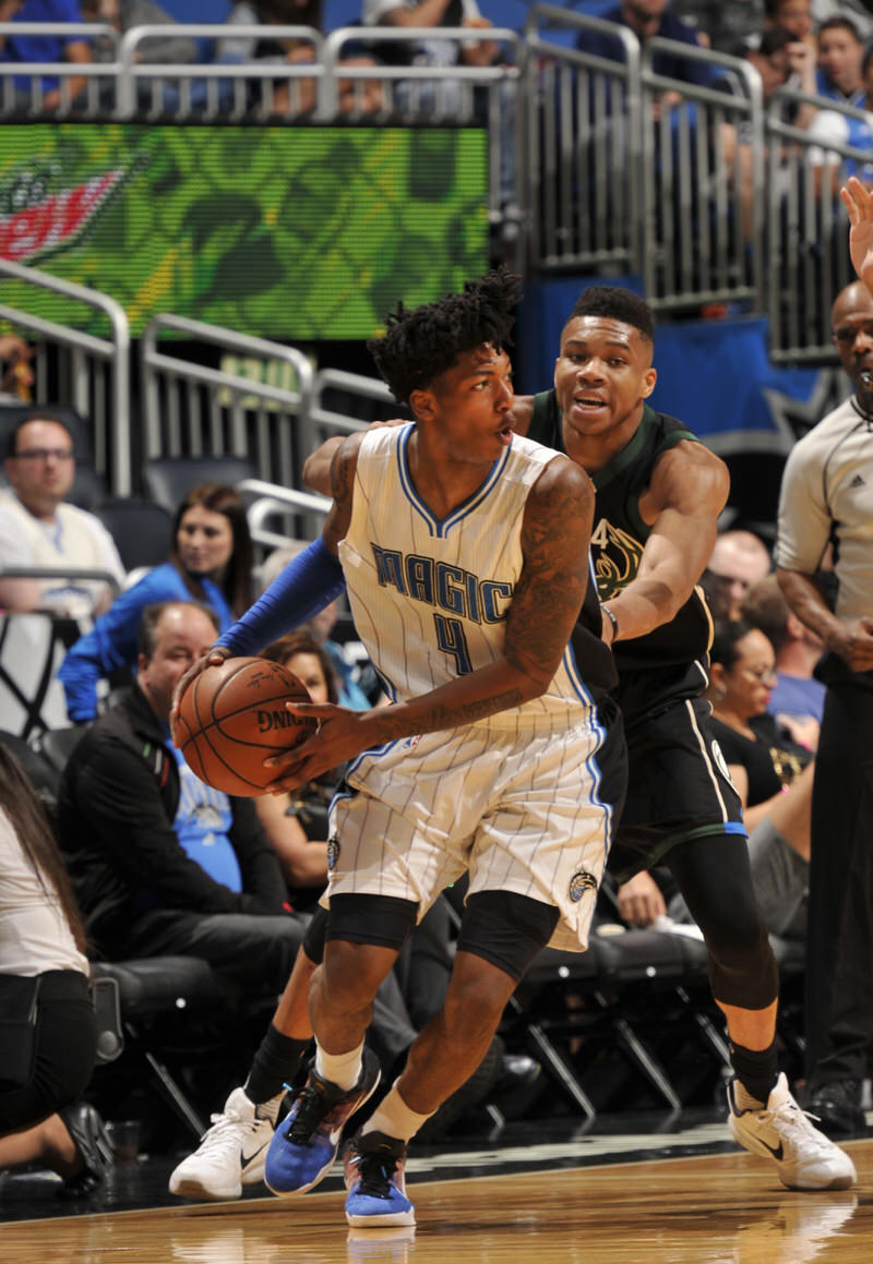
[[[267,592],[215,643],[234,656],[258,653],[311,619],[344,588],[343,568],[319,537],[291,559]]]

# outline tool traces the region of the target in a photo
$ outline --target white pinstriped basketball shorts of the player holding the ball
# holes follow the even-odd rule
[[[469,892],[555,905],[558,948],[581,951],[606,863],[612,809],[598,796],[604,731],[485,727],[426,733],[357,760],[331,809],[334,894],[415,900],[424,916],[469,871]]]

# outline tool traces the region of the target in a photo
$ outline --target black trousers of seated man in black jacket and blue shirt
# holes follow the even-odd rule
[[[278,995],[306,930],[305,914],[189,913],[156,909],[133,924],[123,957],[190,956],[256,995]]]

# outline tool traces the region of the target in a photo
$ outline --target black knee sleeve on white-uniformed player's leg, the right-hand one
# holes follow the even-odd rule
[[[558,909],[515,891],[477,891],[467,900],[458,951],[472,952],[516,982],[544,948],[560,916]]]

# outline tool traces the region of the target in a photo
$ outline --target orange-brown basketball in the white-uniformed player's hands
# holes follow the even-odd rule
[[[285,703],[310,700],[306,686],[280,662],[228,659],[206,667],[185,690],[176,739],[201,781],[225,794],[259,795],[278,775],[263,761],[299,746],[316,728]]]

